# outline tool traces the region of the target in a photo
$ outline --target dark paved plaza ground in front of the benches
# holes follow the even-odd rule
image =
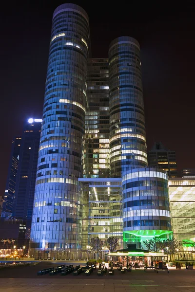
[[[37,276],[37,272],[52,266],[51,262],[40,262],[36,266],[0,269],[0,292],[195,292],[195,270],[170,270],[167,272],[132,270],[114,276],[97,271],[90,276],[80,274],[67,276],[48,274]]]

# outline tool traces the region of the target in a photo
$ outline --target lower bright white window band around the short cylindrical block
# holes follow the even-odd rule
[[[164,216],[171,217],[171,214],[167,210],[158,209],[141,209],[141,210],[131,210],[123,212],[123,218],[131,218],[137,216]]]

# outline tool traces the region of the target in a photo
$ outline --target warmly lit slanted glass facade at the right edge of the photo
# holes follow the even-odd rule
[[[169,179],[169,198],[174,237],[195,241],[195,179]]]

